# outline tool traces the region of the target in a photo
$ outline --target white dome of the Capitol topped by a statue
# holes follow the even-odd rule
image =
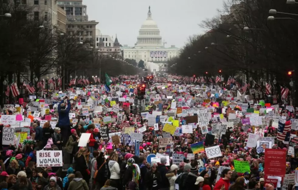
[[[146,48],[146,47],[163,47],[160,31],[156,22],[152,19],[151,10],[149,6],[149,11],[147,14],[147,19],[143,22],[141,29],[139,30],[139,35],[137,37],[136,48]]]

